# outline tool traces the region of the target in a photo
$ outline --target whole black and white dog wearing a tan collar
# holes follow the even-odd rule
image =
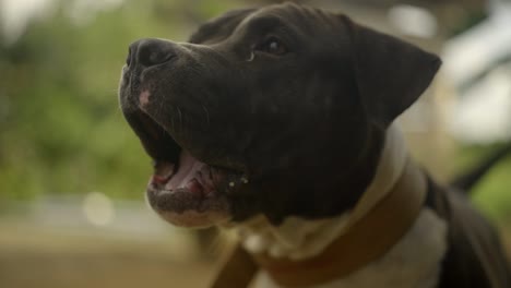
[[[414,164],[394,123],[440,65],[284,3],[227,12],[188,43],[134,41],[119,100],[154,159],[150,205],[237,231],[214,287],[511,287],[497,231]]]

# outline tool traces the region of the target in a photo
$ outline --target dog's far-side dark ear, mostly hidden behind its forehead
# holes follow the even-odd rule
[[[218,41],[229,36],[238,24],[249,14],[254,12],[255,8],[239,9],[226,12],[204,24],[193,33],[188,40],[193,44],[203,44]]]

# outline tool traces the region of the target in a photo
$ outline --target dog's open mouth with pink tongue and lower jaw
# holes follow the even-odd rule
[[[154,160],[146,196],[164,219],[187,227],[230,219],[227,194],[238,182],[234,176],[241,173],[199,160],[141,110],[124,116]]]

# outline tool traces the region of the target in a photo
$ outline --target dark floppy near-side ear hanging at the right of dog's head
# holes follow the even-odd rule
[[[358,92],[369,117],[389,125],[429,86],[441,60],[418,47],[343,16],[352,38]]]

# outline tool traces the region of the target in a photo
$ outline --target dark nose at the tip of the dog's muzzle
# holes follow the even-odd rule
[[[150,68],[170,61],[176,57],[174,43],[161,39],[140,39],[130,45],[126,64]]]

